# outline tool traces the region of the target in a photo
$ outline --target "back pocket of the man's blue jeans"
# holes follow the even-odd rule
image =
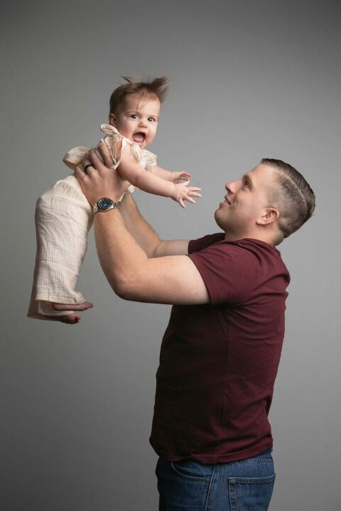
[[[231,511],[266,511],[276,474],[266,478],[229,478]]]

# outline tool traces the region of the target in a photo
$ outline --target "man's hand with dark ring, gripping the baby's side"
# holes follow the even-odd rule
[[[100,160],[97,151],[102,156],[104,163]],[[109,149],[103,143],[99,144],[97,150],[92,149],[81,165],[77,165],[75,177],[80,182],[83,193],[91,206],[102,197],[108,197],[117,202],[130,184],[128,181],[123,181],[119,177],[119,173],[112,168],[112,157]]]

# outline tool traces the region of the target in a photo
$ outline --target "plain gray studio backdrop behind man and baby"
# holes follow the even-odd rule
[[[215,232],[224,183],[264,157],[296,166],[315,216],[280,249],[291,271],[271,424],[271,509],[335,511],[340,475],[340,2],[17,1],[1,8],[1,507],[156,510],[148,444],[169,306],[105,281],[92,233],[76,326],[26,318],[38,195],[94,145],[120,75],[169,73],[151,150],[193,173],[186,210],[136,193],[161,237]]]

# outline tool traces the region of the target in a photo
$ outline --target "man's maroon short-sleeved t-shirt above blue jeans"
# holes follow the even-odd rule
[[[173,306],[156,373],[151,445],[169,461],[227,463],[272,446],[269,408],[284,334],[281,254],[245,238],[189,244],[210,304]]]

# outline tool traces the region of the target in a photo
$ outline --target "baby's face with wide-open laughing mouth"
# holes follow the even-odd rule
[[[109,114],[109,122],[142,149],[151,144],[156,135],[160,107],[156,96],[129,94],[120,111],[116,115]]]

